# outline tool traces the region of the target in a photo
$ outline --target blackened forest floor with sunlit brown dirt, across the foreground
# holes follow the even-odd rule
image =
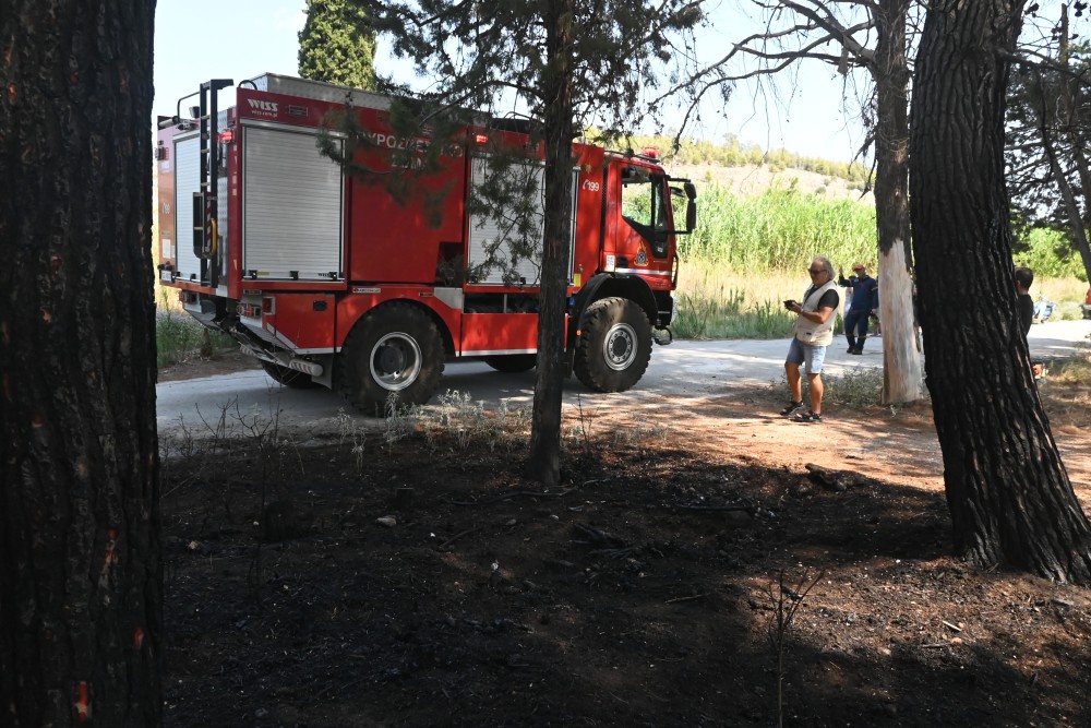
[[[166,725],[1091,725],[1091,590],[951,558],[927,409],[779,405],[568,420],[549,492],[499,426],[176,441]]]

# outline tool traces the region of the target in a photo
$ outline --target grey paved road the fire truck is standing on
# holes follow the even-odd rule
[[[1035,358],[1071,356],[1079,342],[1087,343],[1091,321],[1057,321],[1036,324],[1030,333]],[[876,368],[883,363],[878,339],[872,339],[863,356],[850,356],[840,346],[830,347],[828,371]],[[566,381],[565,404],[585,407],[610,404],[638,407],[661,395],[699,398],[717,391],[779,381],[783,373],[786,339],[775,341],[676,341],[656,347],[651,365],[636,389],[621,394],[600,394],[575,378]],[[494,408],[502,399],[529,405],[533,398],[533,371],[502,374],[481,362],[448,363],[440,392],[469,393]],[[314,429],[335,429],[339,411],[351,411],[336,394],[324,389],[281,389],[260,369],[156,386],[156,414],[160,432],[176,430],[180,421],[197,427],[201,417],[214,420],[225,408],[242,414],[269,413],[279,408],[281,423]],[[237,404],[236,404],[237,403]],[[355,415],[353,415],[355,417]],[[199,427],[200,429],[200,427]]]

